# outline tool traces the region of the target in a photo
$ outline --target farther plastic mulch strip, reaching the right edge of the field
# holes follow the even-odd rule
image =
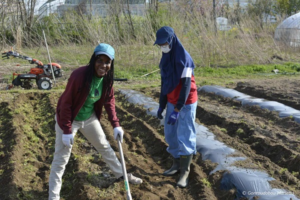
[[[241,101],[241,105],[259,105],[261,108],[268,109],[270,111],[278,111],[279,117],[292,116],[294,121],[300,123],[300,111],[284,105],[276,101],[265,100],[263,98],[256,98],[246,95],[234,89],[221,87],[218,85],[203,85],[198,88],[198,91],[203,90],[205,92],[213,92],[217,95],[224,97],[230,97],[235,100]]]

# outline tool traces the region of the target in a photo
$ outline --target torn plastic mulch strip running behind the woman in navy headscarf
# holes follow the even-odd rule
[[[127,101],[143,105],[147,109],[147,114],[156,116],[159,104],[152,98],[145,96],[139,91],[131,89],[120,89],[121,94]],[[230,93],[230,92],[228,92]],[[233,95],[235,96],[235,95]],[[232,97],[233,97],[232,96]],[[165,115],[165,113],[163,113]],[[163,124],[163,120],[160,122]],[[196,149],[202,155],[202,159],[209,159],[218,163],[211,173],[218,170],[226,170],[221,180],[221,189],[229,190],[236,188],[235,199],[247,197],[253,199],[259,196],[259,199],[265,200],[289,200],[299,199],[293,192],[279,188],[271,188],[268,181],[274,180],[267,173],[250,168],[239,168],[233,165],[235,161],[243,161],[246,157],[234,156],[235,149],[228,147],[226,144],[216,140],[215,135],[203,125],[195,123],[196,126]],[[300,200],[300,199],[299,199]]]

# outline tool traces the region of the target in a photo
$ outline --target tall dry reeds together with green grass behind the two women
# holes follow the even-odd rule
[[[69,74],[72,69],[88,63],[93,48],[99,41],[106,42],[110,43],[116,52],[116,78],[140,80],[141,84],[132,83],[132,86],[137,88],[152,86],[159,84],[159,71],[155,70],[158,69],[161,57],[161,51],[153,46],[155,32],[159,27],[169,25],[174,28],[178,39],[193,58],[197,85],[231,85],[235,79],[265,76],[272,78],[272,75],[269,75],[272,69],[288,73],[300,71],[299,49],[274,40],[274,30],[281,22],[280,19],[275,23],[262,22],[263,27],[260,27],[257,18],[252,17],[253,13],[236,13],[234,7],[228,7],[228,10],[218,10],[217,14],[226,15],[229,21],[232,21],[232,28],[215,32],[211,3],[193,3],[197,6],[197,3],[200,3],[203,13],[195,9],[197,6],[189,7],[188,3],[161,2],[155,10],[151,10],[154,7],[149,8],[146,16],[132,16],[132,27],[128,25],[126,15],[118,15],[115,18],[114,11],[118,12],[117,7],[105,18],[89,17],[70,10],[64,13],[63,18],[50,14],[36,20],[36,23],[30,26],[30,38],[25,31],[20,33],[20,38],[15,38],[14,30],[6,28],[4,24],[7,32],[3,35],[11,34],[11,37],[3,40],[1,50],[7,51],[10,45],[17,43],[23,44],[16,45],[14,50],[47,63],[48,52],[40,34],[41,30],[45,30],[50,60],[61,64],[65,73]],[[7,20],[10,14],[4,14]],[[234,21],[236,14],[239,23]],[[60,21],[63,21],[63,25]],[[16,27],[25,23],[12,21],[12,24]],[[130,31],[130,27],[134,29],[133,32]],[[40,42],[25,42],[30,39]],[[32,46],[24,48],[25,44]],[[16,67],[16,64],[20,66]],[[13,71],[28,71],[32,65],[27,60],[14,58],[0,60],[0,67],[1,82],[5,82],[3,85],[6,86],[11,82]],[[149,74],[143,76],[147,73]],[[143,83],[145,81],[151,82]]]

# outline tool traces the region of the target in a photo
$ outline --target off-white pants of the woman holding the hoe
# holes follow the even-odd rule
[[[56,116],[55,116],[56,120]],[[101,154],[102,158],[109,166],[110,170],[116,178],[123,175],[122,166],[117,159],[113,149],[111,148],[103,129],[100,125],[99,120],[95,114],[92,114],[85,121],[73,121],[72,123],[72,134],[75,136],[77,130],[86,137],[86,139],[96,148],[96,150]],[[59,191],[61,188],[61,177],[67,164],[71,149],[62,143],[63,131],[58,126],[57,122],[55,124],[56,139],[55,139],[55,152],[53,156],[53,161],[51,164],[51,170],[49,175],[49,198],[58,200]],[[75,139],[74,139],[75,142]]]

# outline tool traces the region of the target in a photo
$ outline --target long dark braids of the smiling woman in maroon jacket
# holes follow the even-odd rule
[[[93,82],[94,65],[95,65],[95,61],[98,58],[98,56],[99,55],[95,55],[95,53],[93,53],[87,64],[87,70],[85,72],[85,83],[86,83],[87,92],[89,92],[90,88],[92,88],[92,86],[94,84],[94,82]],[[113,70],[113,62],[114,62],[114,59],[111,61],[110,69],[103,76],[102,95],[105,95],[105,101],[107,101],[107,97],[109,96],[112,85],[113,85],[113,71],[114,71]]]

